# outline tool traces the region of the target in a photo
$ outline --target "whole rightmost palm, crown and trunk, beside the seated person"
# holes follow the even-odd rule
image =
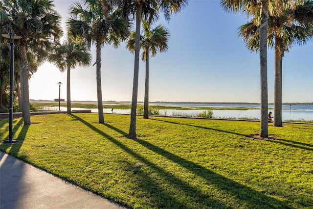
[[[313,0],[291,2],[288,4],[287,10],[274,13],[272,18],[272,36],[275,37],[275,117],[273,125],[282,127],[282,59],[284,52],[289,52],[292,45],[303,45],[312,40]],[[282,20],[285,20],[285,23],[282,23]]]

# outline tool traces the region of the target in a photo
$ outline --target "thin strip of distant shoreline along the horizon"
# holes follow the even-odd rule
[[[30,99],[30,102],[55,102],[53,100],[33,100]],[[71,102],[80,102],[80,103],[97,103],[97,101],[71,101]],[[103,101],[103,103],[132,103],[130,101]],[[138,102],[138,103],[143,103],[143,102]],[[165,103],[165,104],[260,104],[260,103],[240,103],[240,102],[160,102],[160,101],[156,101],[156,102],[149,102],[149,103]],[[274,104],[274,103],[268,103],[270,105]],[[312,103],[282,103],[283,105],[299,105],[299,106],[313,106],[313,102]]]

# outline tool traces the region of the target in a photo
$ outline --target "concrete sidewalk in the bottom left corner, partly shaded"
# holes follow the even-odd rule
[[[0,209],[126,209],[0,152]]]

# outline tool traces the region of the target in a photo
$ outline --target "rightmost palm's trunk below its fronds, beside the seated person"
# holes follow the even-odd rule
[[[275,90],[274,90],[274,126],[283,127],[282,123],[282,59],[281,38],[275,37]]]

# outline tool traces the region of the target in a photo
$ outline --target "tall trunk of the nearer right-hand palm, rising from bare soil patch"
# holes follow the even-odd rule
[[[268,0],[262,0],[260,26],[261,125],[260,137],[268,137]]]

